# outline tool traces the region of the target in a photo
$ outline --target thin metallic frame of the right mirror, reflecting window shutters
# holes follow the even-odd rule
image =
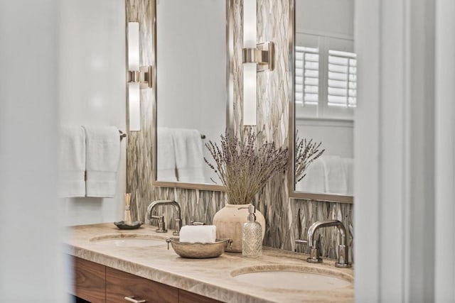
[[[295,1],[289,0],[289,64],[288,64],[288,77],[289,77],[289,167],[288,167],[288,188],[289,198],[292,199],[306,199],[315,200],[322,202],[341,202],[341,203],[353,203],[353,196],[346,196],[343,194],[323,194],[323,193],[312,193],[312,192],[296,192],[295,190],[295,35],[296,35],[296,11]]]

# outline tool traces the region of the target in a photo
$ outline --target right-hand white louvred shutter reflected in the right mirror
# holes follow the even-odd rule
[[[357,104],[357,60],[355,53],[328,50],[328,106]]]

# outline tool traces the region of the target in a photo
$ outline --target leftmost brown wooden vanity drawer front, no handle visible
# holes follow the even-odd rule
[[[106,302],[105,266],[81,258],[73,261],[73,294],[92,303]]]

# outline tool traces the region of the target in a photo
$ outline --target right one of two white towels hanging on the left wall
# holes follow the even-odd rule
[[[120,162],[120,137],[115,126],[84,126],[87,197],[114,197]]]

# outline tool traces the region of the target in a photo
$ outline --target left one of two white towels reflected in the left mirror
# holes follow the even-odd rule
[[[176,182],[176,152],[173,131],[159,127],[156,136],[156,180]]]

